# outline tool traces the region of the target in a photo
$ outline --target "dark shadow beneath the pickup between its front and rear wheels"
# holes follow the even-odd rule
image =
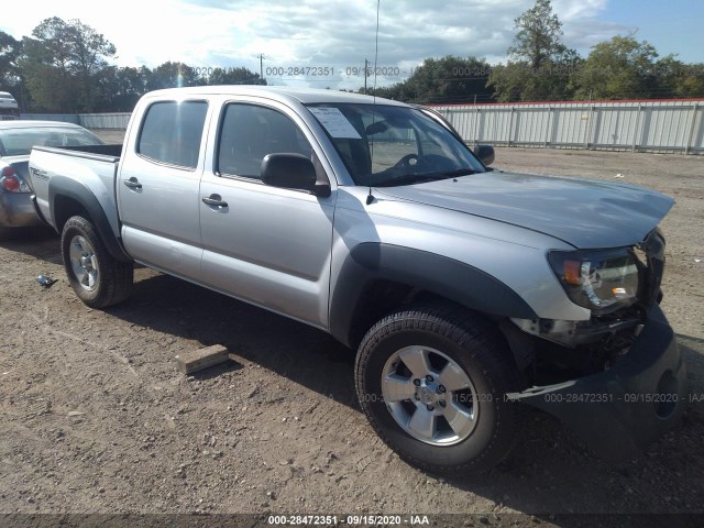
[[[360,409],[354,352],[323,331],[168,275],[144,273],[153,276],[138,280],[125,304],[106,311],[204,346],[222,344],[235,356]]]

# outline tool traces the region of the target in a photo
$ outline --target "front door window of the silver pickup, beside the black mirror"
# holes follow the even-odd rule
[[[283,113],[253,105],[228,105],[220,130],[218,172],[258,179],[262,160],[274,153],[310,158],[312,148]]]

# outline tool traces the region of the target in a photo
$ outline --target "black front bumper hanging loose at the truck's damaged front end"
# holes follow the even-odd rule
[[[672,328],[656,305],[613,369],[507,396],[554,415],[601,458],[624,462],[678,420],[688,400],[686,372]]]

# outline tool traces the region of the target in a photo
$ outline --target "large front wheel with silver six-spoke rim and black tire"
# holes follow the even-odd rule
[[[355,364],[362,409],[404,460],[438,474],[493,468],[519,430],[507,345],[488,323],[451,305],[418,305],[377,322]]]

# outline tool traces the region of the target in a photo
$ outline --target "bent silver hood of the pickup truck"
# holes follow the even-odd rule
[[[578,249],[637,244],[674,204],[634,185],[503,172],[376,188],[375,195],[510,223]]]

